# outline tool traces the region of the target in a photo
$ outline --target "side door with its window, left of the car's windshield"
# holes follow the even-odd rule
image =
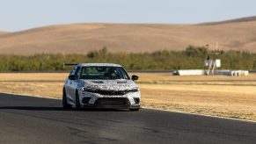
[[[65,90],[67,94],[67,98],[71,100],[72,102],[75,102],[76,98],[76,90],[77,90],[77,85],[78,85],[78,72],[80,70],[79,66],[76,66],[71,70],[69,76],[75,76],[75,80],[68,79],[66,84],[65,84]]]

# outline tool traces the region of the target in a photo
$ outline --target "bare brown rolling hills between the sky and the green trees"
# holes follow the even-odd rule
[[[256,52],[256,17],[198,25],[73,24],[0,32],[0,54],[183,50],[188,45]]]

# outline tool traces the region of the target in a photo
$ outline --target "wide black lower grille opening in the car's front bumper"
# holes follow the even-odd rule
[[[100,97],[95,104],[129,104],[128,98],[124,97]]]

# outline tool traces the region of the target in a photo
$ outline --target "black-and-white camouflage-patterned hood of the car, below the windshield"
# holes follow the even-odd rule
[[[138,86],[132,80],[82,80],[83,87],[97,90],[134,90]]]

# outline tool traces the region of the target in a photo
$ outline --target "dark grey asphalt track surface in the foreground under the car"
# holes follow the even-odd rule
[[[64,111],[55,99],[0,94],[0,143],[256,143],[256,123],[142,109]]]

